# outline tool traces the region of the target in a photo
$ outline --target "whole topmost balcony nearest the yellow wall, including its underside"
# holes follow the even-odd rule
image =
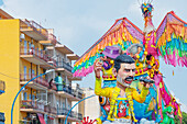
[[[46,29],[42,27],[40,24],[37,24],[34,21],[28,21],[28,20],[21,21],[20,31],[36,41],[46,41],[48,35]]]

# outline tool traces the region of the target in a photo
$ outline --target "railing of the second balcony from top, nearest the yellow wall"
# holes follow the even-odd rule
[[[36,48],[21,47],[20,54],[21,55],[34,55],[34,56],[45,60],[46,63],[50,61],[50,58],[47,57],[45,52],[44,50],[38,50]]]

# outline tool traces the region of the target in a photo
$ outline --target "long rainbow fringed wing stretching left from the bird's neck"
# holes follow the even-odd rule
[[[125,50],[131,44],[143,44],[143,32],[127,18],[119,19],[74,65],[74,77],[85,77],[94,70],[94,61],[106,46],[119,45]]]

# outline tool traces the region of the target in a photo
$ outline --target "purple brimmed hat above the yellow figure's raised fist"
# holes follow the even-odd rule
[[[120,55],[119,48],[114,46],[106,46],[106,49],[102,52],[102,54],[113,59]]]

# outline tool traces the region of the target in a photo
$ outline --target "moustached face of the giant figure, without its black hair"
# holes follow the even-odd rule
[[[135,64],[122,63],[120,66],[121,67],[118,71],[117,81],[122,86],[128,87],[133,81],[135,75]]]

